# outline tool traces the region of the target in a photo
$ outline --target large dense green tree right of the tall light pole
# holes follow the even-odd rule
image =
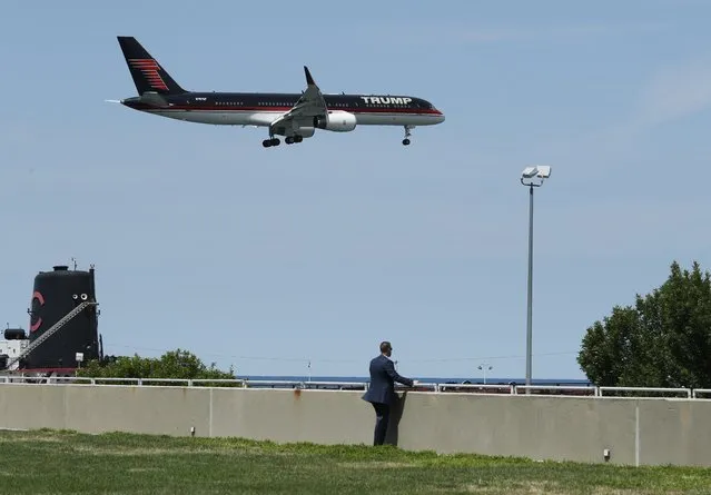
[[[577,363],[600,386],[711,386],[711,275],[671,265],[634,306],[615,306],[583,337]]]

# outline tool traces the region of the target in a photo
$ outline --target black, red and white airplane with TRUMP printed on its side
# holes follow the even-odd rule
[[[316,129],[349,132],[356,126],[403,126],[403,145],[409,145],[417,126],[444,122],[431,102],[412,96],[322,93],[304,66],[306,89],[300,93],[217,92],[182,89],[134,37],[117,37],[137,97],[119,102],[134,110],[188,122],[266,127],[265,148],[302,142]]]

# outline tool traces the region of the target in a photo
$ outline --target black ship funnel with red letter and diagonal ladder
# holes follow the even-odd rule
[[[60,265],[34,277],[30,314],[30,345],[83,301],[96,301],[93,267],[69,270]],[[70,319],[20,363],[21,368],[76,368],[77,353],[83,362],[98,359],[98,311],[89,306]]]

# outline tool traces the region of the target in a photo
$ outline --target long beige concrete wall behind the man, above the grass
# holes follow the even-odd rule
[[[0,427],[371,444],[362,392],[0,385]],[[405,449],[535,459],[711,466],[711,400],[401,394],[388,440]]]

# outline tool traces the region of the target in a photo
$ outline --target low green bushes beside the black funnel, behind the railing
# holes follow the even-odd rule
[[[221,372],[217,369],[215,363],[207,367],[192,353],[176,349],[164,354],[159,358],[134,355],[132,357],[112,356],[109,359],[105,359],[103,363],[95,359],[79,369],[77,376],[93,378],[234,379],[235,372],[231,367],[229,372]]]

